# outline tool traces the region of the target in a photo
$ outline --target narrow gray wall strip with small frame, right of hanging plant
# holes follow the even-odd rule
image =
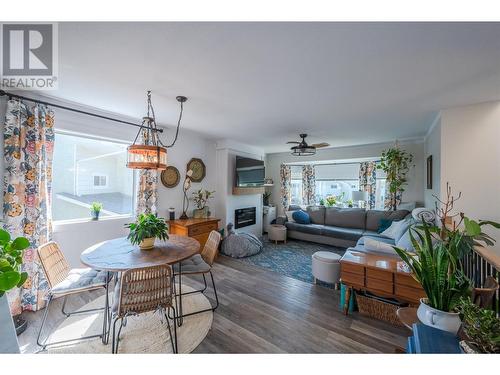
[[[427,189],[427,158],[432,155],[432,189]],[[424,203],[434,208],[441,194],[441,117],[437,117],[424,142]]]

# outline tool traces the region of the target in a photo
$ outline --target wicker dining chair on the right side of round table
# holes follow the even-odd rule
[[[217,289],[215,288],[214,276],[212,274],[212,265],[214,263],[215,258],[217,257],[217,254],[219,253],[220,241],[221,241],[220,233],[215,230],[211,231],[210,235],[208,236],[208,240],[205,243],[205,246],[203,247],[203,250],[200,254],[193,255],[191,258],[182,261],[180,267],[178,264],[174,265],[174,280],[176,277],[179,276],[179,274],[202,275],[204,283],[203,289],[193,290],[191,292],[179,293],[176,294],[176,297],[185,296],[193,293],[204,293],[205,290],[207,289],[207,279],[205,277],[206,274],[210,274],[215,295],[215,306],[211,306],[210,308],[204,310],[190,312],[188,314],[182,314],[182,311],[179,311],[179,315],[177,316],[178,319],[182,319],[190,315],[200,314],[206,311],[215,311],[217,307],[219,307],[219,297],[217,296]],[[174,290],[175,290],[175,283],[174,283]]]

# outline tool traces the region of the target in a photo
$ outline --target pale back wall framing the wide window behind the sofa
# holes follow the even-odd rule
[[[298,157],[289,152],[281,152],[266,155],[266,177],[274,180],[272,188],[271,202],[278,207],[278,213],[283,214],[283,207],[280,203],[280,164],[281,163],[301,163],[316,161],[337,161],[346,162],[356,159],[379,158],[382,150],[393,146],[394,143],[382,143],[363,146],[338,147],[318,150],[314,156]],[[413,155],[413,164],[408,173],[408,186],[403,193],[403,201],[416,201],[423,204],[424,191],[422,180],[424,178],[424,145],[421,141],[400,142],[400,147]]]

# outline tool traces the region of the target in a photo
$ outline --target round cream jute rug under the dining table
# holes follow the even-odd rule
[[[192,291],[189,286],[182,286],[182,291]],[[210,302],[201,293],[182,297],[183,310],[187,314],[192,311],[210,308]],[[87,310],[104,306],[104,296],[81,307]],[[102,331],[102,311],[93,314],[73,315],[64,320],[51,334],[49,342],[67,340],[69,338],[99,334]],[[211,311],[184,318],[181,327],[177,327],[179,353],[192,352],[205,338],[212,326]],[[173,322],[171,321],[172,334]],[[119,323],[117,323],[118,329]],[[83,340],[48,347],[48,353],[104,353],[111,354],[111,335],[108,345],[103,345],[99,338]],[[127,318],[127,325],[120,335],[119,353],[172,353],[167,322],[159,313],[145,313]]]

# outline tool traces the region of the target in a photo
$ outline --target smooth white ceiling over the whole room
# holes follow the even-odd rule
[[[422,137],[500,99],[500,23],[61,23],[57,97],[286,151]],[[172,136],[172,132],[168,132]],[[181,134],[182,136],[182,134]]]

